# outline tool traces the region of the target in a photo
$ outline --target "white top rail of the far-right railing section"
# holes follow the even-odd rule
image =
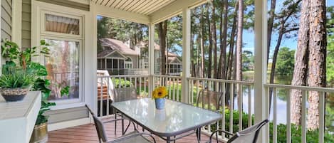
[[[308,90],[318,92],[334,92],[334,88],[320,88],[310,86],[299,86],[299,85],[278,85],[278,84],[264,84],[266,88],[288,88],[292,90]]]

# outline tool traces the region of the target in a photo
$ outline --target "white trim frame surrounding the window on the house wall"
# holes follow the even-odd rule
[[[92,106],[93,104],[93,90],[91,89],[94,87],[95,84],[94,76],[96,75],[96,48],[91,48],[93,46],[93,23],[90,21],[94,21],[95,18],[92,16],[92,12],[90,11],[83,11],[80,9],[73,9],[68,8],[66,6],[58,6],[56,4],[48,4],[41,1],[32,0],[31,1],[31,45],[32,46],[39,46],[39,41],[41,37],[46,36],[41,33],[41,24],[43,23],[41,20],[41,11],[58,11],[61,9],[61,13],[65,14],[68,13],[70,16],[81,16],[82,17],[82,25],[81,26],[81,33],[82,37],[80,46],[80,96],[81,100],[77,102],[78,104],[74,104],[75,107],[82,106],[83,103]],[[71,38],[71,36],[63,36],[63,34],[55,34],[59,38]],[[72,38],[78,39],[78,37],[72,36]],[[39,51],[39,49],[37,50]],[[33,58],[33,60],[38,62],[43,62],[42,57]],[[87,67],[87,68],[85,68]],[[89,68],[88,68],[89,67]],[[85,82],[87,81],[87,82]],[[81,104],[80,104],[81,103]],[[73,105],[61,105],[61,109],[72,108]],[[52,126],[51,126],[52,127]]]

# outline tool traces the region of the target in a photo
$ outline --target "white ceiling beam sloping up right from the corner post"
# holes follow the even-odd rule
[[[162,9],[150,14],[151,23],[159,23],[165,19],[171,18],[172,16],[181,14],[182,9],[184,8],[193,8],[194,6],[199,6],[200,4],[204,4],[206,2],[208,2],[208,0],[173,1],[171,4],[168,4]]]

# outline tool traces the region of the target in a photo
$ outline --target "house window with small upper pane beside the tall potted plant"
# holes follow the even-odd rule
[[[80,102],[81,58],[83,49],[83,16],[41,11],[41,39],[50,46],[50,56],[44,57],[50,80],[51,95],[48,100]],[[69,95],[61,90],[69,88]]]

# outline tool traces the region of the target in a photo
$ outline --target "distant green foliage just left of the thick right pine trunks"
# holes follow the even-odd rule
[[[276,62],[276,74],[278,75],[292,75],[294,68],[295,51],[290,48],[283,47],[278,51],[278,57]]]

